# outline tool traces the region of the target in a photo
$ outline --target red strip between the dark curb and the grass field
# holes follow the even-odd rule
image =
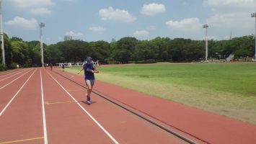
[[[63,72],[62,74],[80,83],[84,82],[81,76]],[[170,129],[198,139],[199,143],[256,143],[256,125],[100,81],[96,82],[94,89],[162,122]]]

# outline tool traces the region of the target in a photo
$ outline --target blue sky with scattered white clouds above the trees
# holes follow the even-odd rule
[[[255,34],[256,0],[2,0],[3,27],[9,37],[53,44],[64,35],[87,42],[112,38],[181,37],[227,40]]]

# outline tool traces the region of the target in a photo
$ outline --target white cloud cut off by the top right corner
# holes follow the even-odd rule
[[[229,8],[255,8],[255,0],[206,0],[206,4],[213,7]]]

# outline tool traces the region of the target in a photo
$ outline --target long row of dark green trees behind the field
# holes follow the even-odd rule
[[[205,40],[156,37],[153,40],[137,40],[123,37],[118,41],[86,42],[68,40],[44,47],[45,63],[83,62],[87,56],[101,63],[155,63],[157,61],[190,62],[205,58]],[[41,66],[40,42],[25,42],[19,37],[4,34],[6,68]],[[253,57],[255,36],[247,35],[231,40],[208,40],[209,58]],[[1,50],[0,50],[1,53]],[[0,60],[2,60],[0,56]],[[0,65],[0,70],[4,69]]]

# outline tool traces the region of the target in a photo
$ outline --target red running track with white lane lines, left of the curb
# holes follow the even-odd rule
[[[0,87],[5,84],[0,144],[185,143],[94,94],[88,106],[85,89],[44,68],[26,69],[0,81]]]

